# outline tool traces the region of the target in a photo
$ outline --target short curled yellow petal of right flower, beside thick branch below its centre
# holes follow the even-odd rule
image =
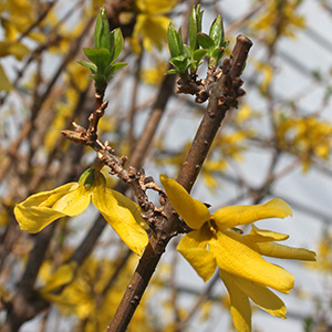
[[[194,230],[184,236],[176,247],[205,282],[212,277],[217,268],[215,256],[206,246],[207,241],[201,231]]]

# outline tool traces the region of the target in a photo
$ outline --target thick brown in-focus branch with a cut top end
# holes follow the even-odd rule
[[[231,95],[231,93],[236,92],[236,90],[239,91],[239,86],[228,86],[225,85],[225,83],[234,83],[234,80],[238,79],[245,65],[245,61],[251,45],[252,43],[249,39],[242,35],[238,37],[237,44],[231,55],[230,71],[229,73],[222,74],[224,79],[221,76],[220,81],[216,82],[216,86],[210,94],[208,110],[204,116],[203,123],[205,131],[212,131],[214,135],[204,133],[201,128],[198,129],[200,134],[197,133],[197,135],[199,136],[196,136],[188,153],[188,157],[186,160],[187,163],[185,162],[178,176],[179,183],[188,191],[193,187],[205,159],[205,157],[201,157],[201,155],[206,156],[225,116],[225,113],[231,107],[231,105],[238,97],[238,95]],[[224,69],[227,69],[227,63],[225,63]],[[231,82],[226,79],[230,79]],[[235,91],[230,91],[229,87],[234,87]],[[225,92],[229,92],[230,95],[224,95]],[[221,96],[222,98],[220,98]],[[207,127],[206,123],[209,123],[211,127]],[[204,137],[201,142],[199,141],[201,139],[200,137]],[[203,147],[203,151],[198,152],[198,146]],[[188,160],[190,160],[190,163]],[[158,220],[160,222],[160,229],[159,231],[156,231],[152,235],[149,243],[139,260],[139,263],[133,274],[129,284],[127,286],[125,294],[116,310],[116,313],[107,328],[108,332],[122,332],[127,329],[127,325],[145,292],[145,289],[156,269],[162,255],[166,249],[169,239],[177,232],[179,221],[169,203],[165,205],[164,214],[167,218],[160,218]]]

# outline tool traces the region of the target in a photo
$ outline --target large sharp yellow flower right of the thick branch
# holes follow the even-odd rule
[[[234,229],[266,218],[291,216],[291,208],[280,198],[263,205],[230,206],[211,215],[208,208],[177,181],[160,175],[167,197],[177,214],[193,229],[177,246],[196,272],[208,281],[219,268],[230,295],[230,312],[239,332],[251,331],[249,298],[274,317],[284,318],[283,302],[269,288],[290,292],[294,277],[284,269],[266,261],[261,255],[301,260],[315,260],[315,253],[302,248],[278,245],[287,235],[261,230],[251,226],[248,235]]]

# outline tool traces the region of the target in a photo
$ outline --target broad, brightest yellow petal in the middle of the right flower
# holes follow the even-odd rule
[[[218,267],[228,273],[284,293],[293,288],[294,277],[291,273],[267,262],[236,231],[217,231],[216,237],[209,241],[209,248],[215,253]]]

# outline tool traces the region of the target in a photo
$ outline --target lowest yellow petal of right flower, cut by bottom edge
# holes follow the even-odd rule
[[[232,322],[239,332],[251,331],[251,308],[248,295],[245,294],[234,282],[230,274],[220,270],[219,276],[222,279],[230,297],[230,313]]]

